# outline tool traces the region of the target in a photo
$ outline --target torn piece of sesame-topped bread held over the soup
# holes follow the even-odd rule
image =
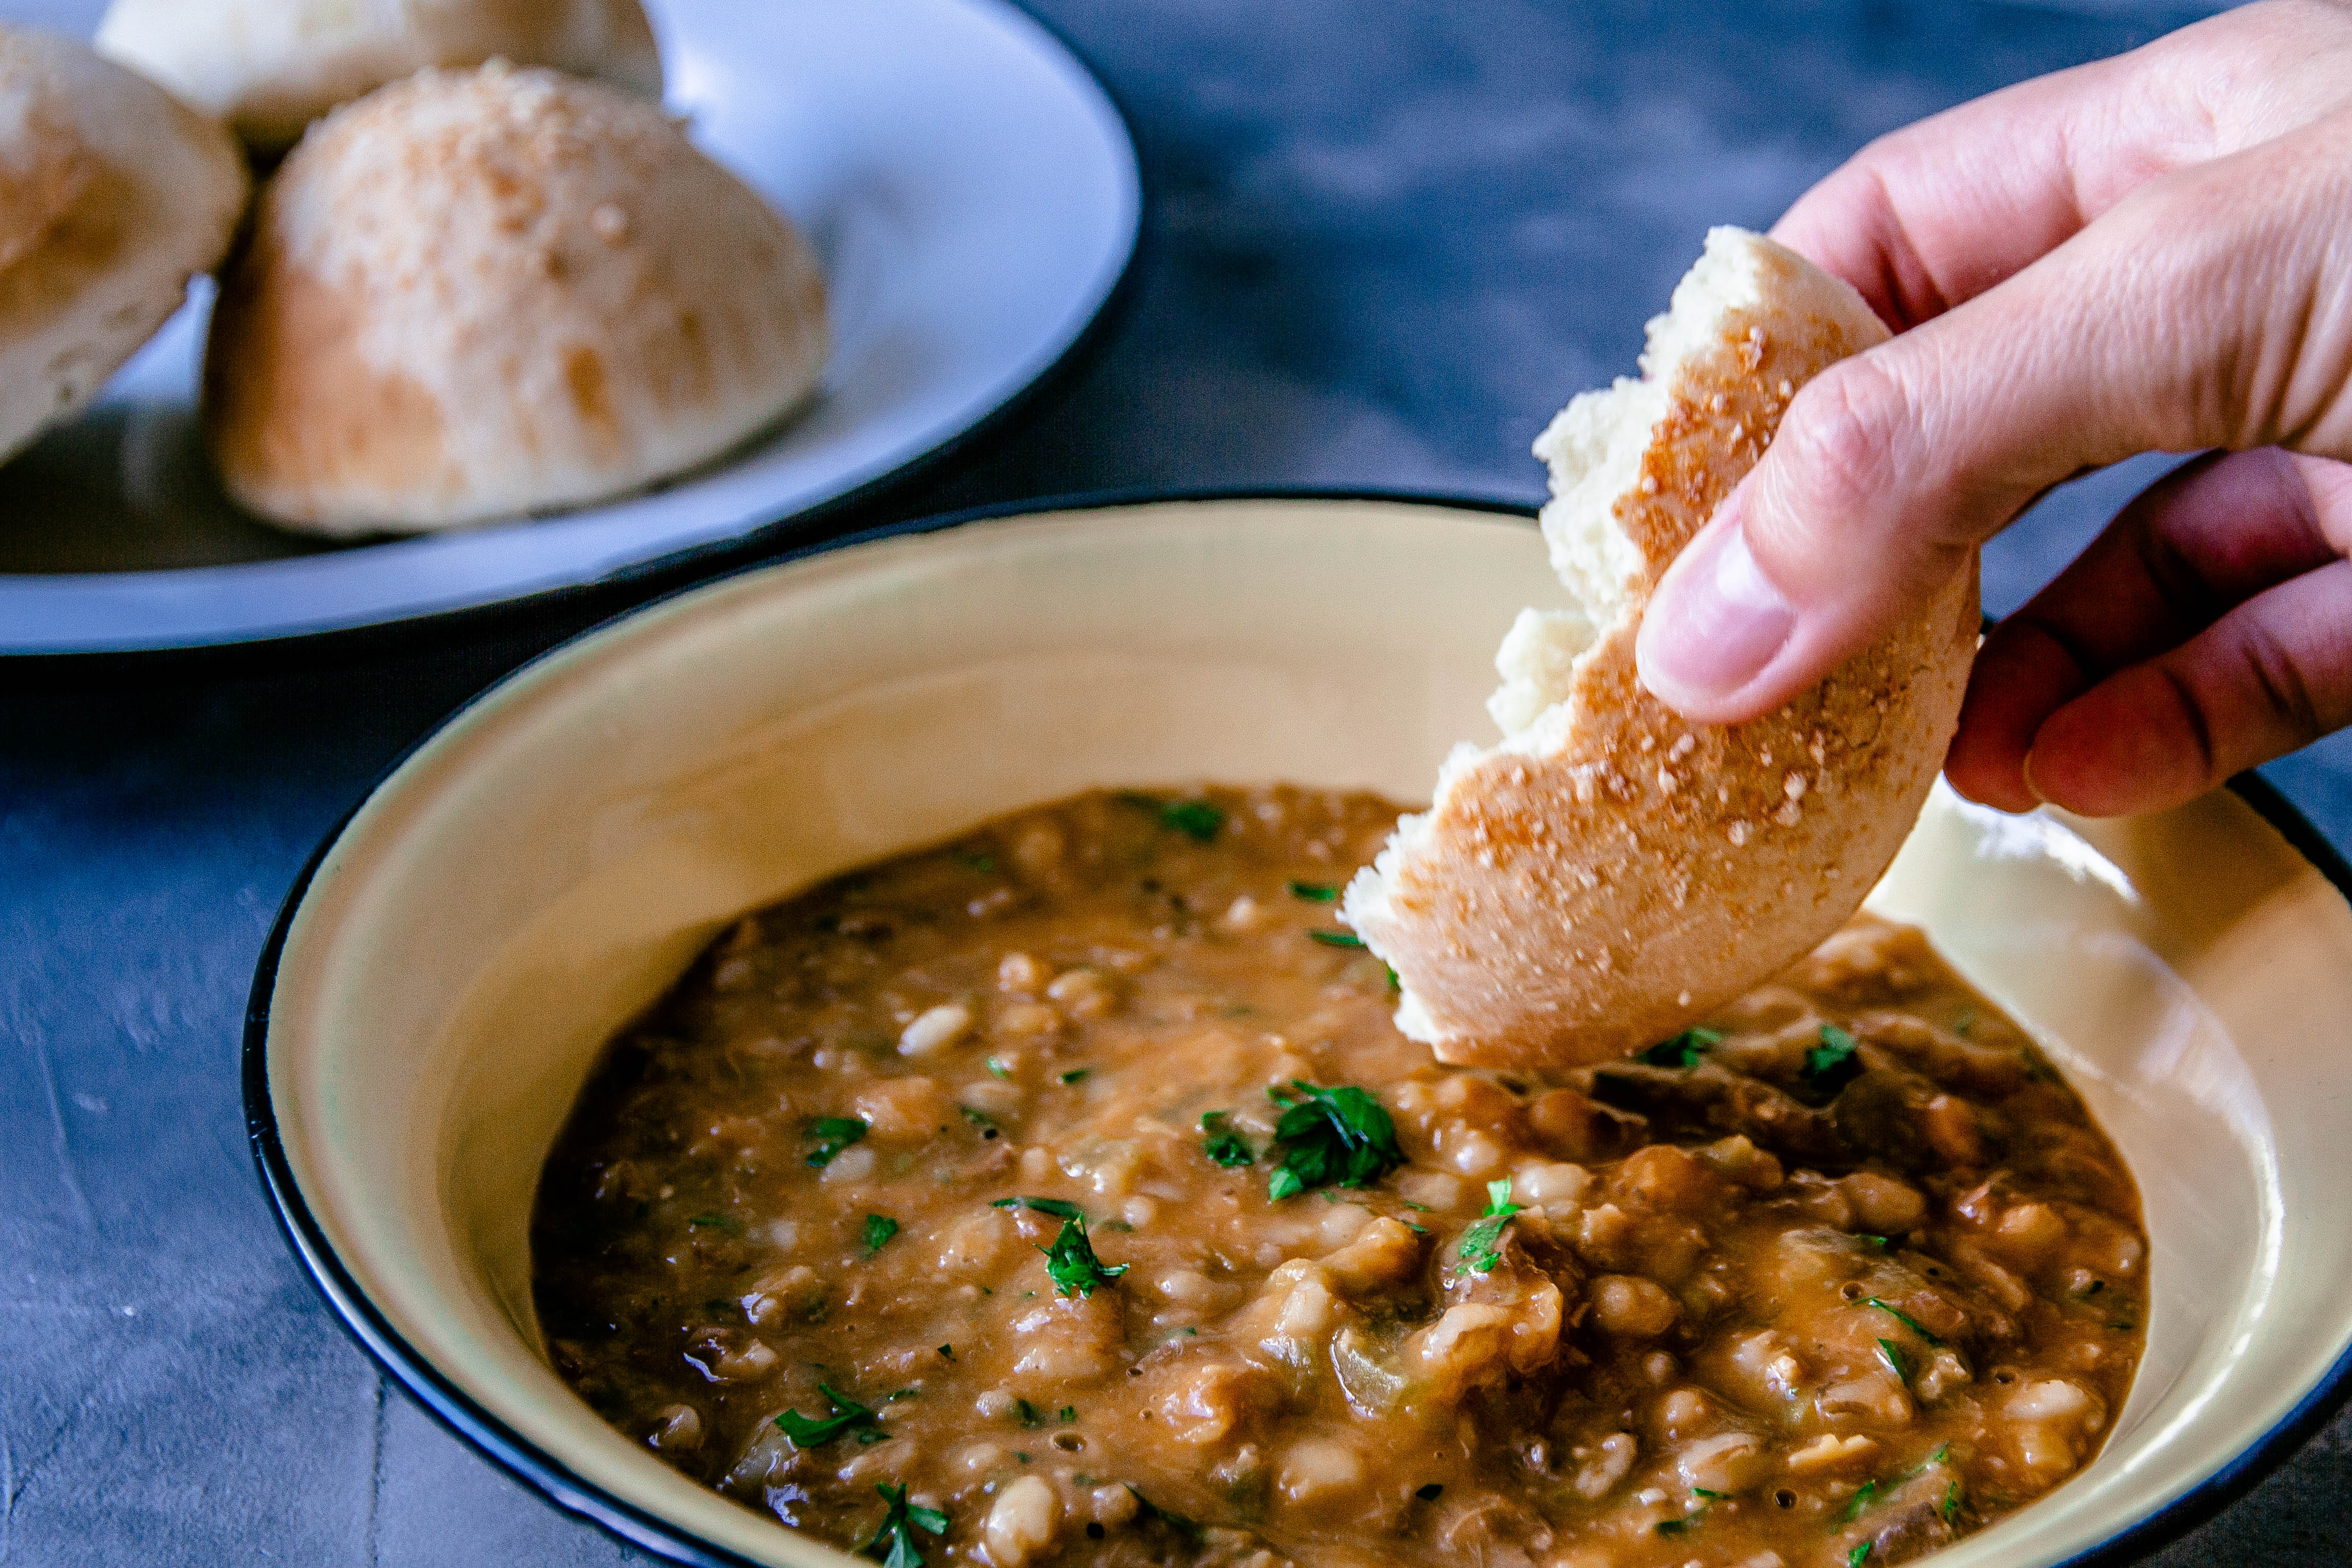
[[[1926,799],[1976,651],[1976,567],[1924,618],[1773,715],[1686,724],[1635,677],[1668,562],[1830,362],[1886,339],[1844,282],[1738,228],[1649,324],[1642,381],[1536,440],[1543,534],[1578,611],[1522,611],[1437,799],[1348,884],[1446,1063],[1573,1065],[1668,1039],[1846,922]]]

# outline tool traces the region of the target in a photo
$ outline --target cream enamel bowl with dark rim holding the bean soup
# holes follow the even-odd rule
[[[682,1561],[842,1568],[541,1356],[524,1227],[600,1044],[743,910],[1018,806],[1202,778],[1421,799],[1491,733],[1494,646],[1531,599],[1557,588],[1524,517],[1183,501],[823,552],[541,658],[421,745],[280,917],[245,1093],[287,1234],[395,1378],[567,1507]],[[2147,1549],[2345,1385],[2352,910],[2232,795],[2084,823],[1943,790],[1872,905],[2065,1067],[2152,1237],[2107,1448],[1938,1568]]]

